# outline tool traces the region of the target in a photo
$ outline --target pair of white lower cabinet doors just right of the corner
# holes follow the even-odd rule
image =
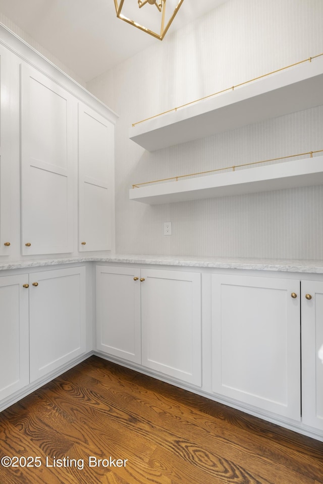
[[[201,385],[200,274],[97,266],[97,349]]]

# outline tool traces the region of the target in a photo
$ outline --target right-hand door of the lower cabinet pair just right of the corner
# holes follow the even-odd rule
[[[142,269],[142,365],[201,385],[201,276]]]

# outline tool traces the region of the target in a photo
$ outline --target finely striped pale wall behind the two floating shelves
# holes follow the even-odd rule
[[[323,52],[322,25],[322,0],[229,0],[87,84],[120,114],[117,252],[323,259],[322,187],[159,206],[128,199],[133,183],[323,149],[323,106],[154,153],[128,138],[140,119]]]

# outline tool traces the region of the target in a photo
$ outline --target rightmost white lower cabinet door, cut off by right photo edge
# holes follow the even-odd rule
[[[302,421],[323,430],[323,282],[302,281]],[[311,297],[307,299],[305,296]]]

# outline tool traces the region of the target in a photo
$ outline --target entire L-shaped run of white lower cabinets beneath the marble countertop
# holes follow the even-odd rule
[[[95,349],[322,439],[322,278],[201,272],[96,265]],[[85,354],[85,301],[84,266],[0,277],[3,408]]]

